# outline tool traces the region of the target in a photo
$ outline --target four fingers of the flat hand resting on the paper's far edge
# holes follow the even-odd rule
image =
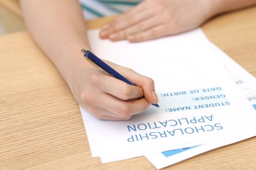
[[[150,11],[150,10],[148,10]],[[111,41],[120,41],[127,39],[130,42],[148,41],[151,39],[156,39],[158,37],[163,37],[171,32],[171,27],[167,29],[167,14],[163,15],[165,17],[159,16],[159,14],[152,15],[145,14],[142,12],[140,14],[140,19],[123,19],[125,22],[117,20],[102,27],[100,31],[100,37],[102,39],[110,39]],[[122,16],[123,18],[125,16]],[[131,24],[133,23],[133,24]]]

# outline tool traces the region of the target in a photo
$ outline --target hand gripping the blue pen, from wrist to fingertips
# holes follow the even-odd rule
[[[83,60],[83,64],[74,68],[72,79],[67,82],[79,105],[96,118],[129,120],[134,114],[144,111],[151,103],[158,103],[152,79],[106,61],[137,85],[131,86],[106,75],[86,62]]]

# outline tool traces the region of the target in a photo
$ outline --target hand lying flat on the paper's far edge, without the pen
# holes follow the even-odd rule
[[[194,29],[213,15],[207,0],[146,0],[101,28],[100,37],[147,41]]]

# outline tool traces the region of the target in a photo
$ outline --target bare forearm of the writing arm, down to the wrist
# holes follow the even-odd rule
[[[20,3],[33,38],[66,78],[66,69],[74,68],[83,59],[79,57],[81,48],[89,49],[79,3],[74,0],[21,0]]]

